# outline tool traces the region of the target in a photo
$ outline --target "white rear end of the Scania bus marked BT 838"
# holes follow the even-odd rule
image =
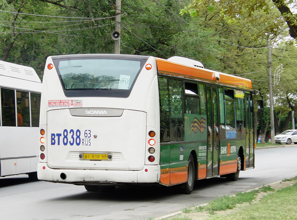
[[[46,60],[38,179],[87,186],[158,183],[154,57],[75,54]]]

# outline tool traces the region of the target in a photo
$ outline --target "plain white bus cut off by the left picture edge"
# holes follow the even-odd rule
[[[37,179],[41,89],[33,68],[0,61],[0,176]]]

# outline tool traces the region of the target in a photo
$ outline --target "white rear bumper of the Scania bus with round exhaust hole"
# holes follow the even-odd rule
[[[82,170],[53,169],[47,163],[38,163],[37,177],[49,182],[69,184],[90,183],[159,183],[160,166],[145,165],[142,170]]]

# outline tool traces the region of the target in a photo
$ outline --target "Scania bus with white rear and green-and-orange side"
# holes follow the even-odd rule
[[[177,63],[184,62],[184,64]],[[84,185],[237,180],[254,168],[250,80],[195,60],[74,54],[46,60],[38,179]]]

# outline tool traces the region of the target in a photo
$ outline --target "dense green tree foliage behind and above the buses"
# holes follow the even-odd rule
[[[114,0],[61,0],[59,4],[4,0],[2,11],[24,14],[0,13],[1,59],[29,65],[42,77],[50,55],[113,53]],[[295,41],[287,39],[284,17],[292,15],[281,16],[271,0],[122,0],[121,12],[122,54],[199,60],[207,69],[251,79],[265,100],[269,33],[272,72],[283,65],[280,83],[274,86],[276,118],[279,130],[291,126],[287,116],[297,106],[297,51]]]

